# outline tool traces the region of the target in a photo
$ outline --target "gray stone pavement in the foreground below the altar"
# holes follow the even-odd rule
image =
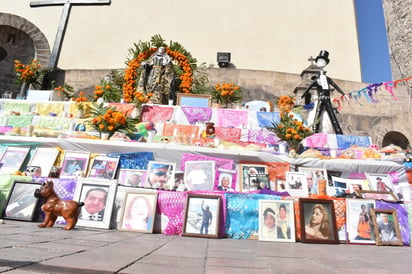
[[[205,239],[0,224],[1,273],[412,273],[411,247]]]

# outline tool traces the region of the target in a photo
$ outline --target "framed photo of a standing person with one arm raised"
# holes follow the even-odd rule
[[[220,196],[188,194],[183,236],[219,237]]]

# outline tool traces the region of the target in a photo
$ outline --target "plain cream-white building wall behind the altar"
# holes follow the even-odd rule
[[[1,0],[0,11],[35,24],[53,47],[62,6]],[[329,76],[361,81],[352,0],[112,0],[110,6],[73,6],[59,67],[123,68],[133,43],[154,34],[181,43],[199,63],[216,65],[217,52],[231,52],[240,69],[300,74],[308,57],[325,49]]]

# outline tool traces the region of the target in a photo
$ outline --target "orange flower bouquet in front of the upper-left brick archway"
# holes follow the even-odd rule
[[[39,87],[40,77],[42,75],[40,71],[40,64],[37,60],[32,60],[29,64],[25,65],[19,60],[14,60],[14,72],[16,74],[17,83],[32,84]]]

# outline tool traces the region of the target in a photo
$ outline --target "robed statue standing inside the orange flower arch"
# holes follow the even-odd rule
[[[153,93],[153,104],[169,104],[175,97],[175,73],[170,56],[164,47],[159,47],[147,62],[142,62],[137,90]]]

